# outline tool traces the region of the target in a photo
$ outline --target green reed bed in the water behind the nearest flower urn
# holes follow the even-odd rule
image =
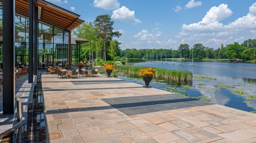
[[[143,69],[145,67],[140,66],[127,66],[127,65],[119,65],[115,66],[115,70],[128,72],[130,70],[130,73],[132,74],[138,74],[140,69]],[[189,81],[192,80],[193,74],[190,71],[186,70],[168,70],[168,69],[162,69],[162,68],[154,68],[156,69],[155,77],[158,79],[171,79],[175,81]]]

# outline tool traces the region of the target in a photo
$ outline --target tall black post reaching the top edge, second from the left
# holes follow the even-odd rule
[[[33,83],[34,0],[29,0],[29,83]]]

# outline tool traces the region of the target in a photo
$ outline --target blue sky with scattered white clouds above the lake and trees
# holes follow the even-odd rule
[[[256,39],[255,0],[47,0],[94,21],[109,14],[121,48],[218,48]]]

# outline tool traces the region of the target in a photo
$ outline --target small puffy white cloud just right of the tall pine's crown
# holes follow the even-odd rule
[[[139,19],[135,18],[135,12],[130,11],[127,7],[124,6],[118,8],[117,10],[114,10],[111,18],[115,20],[125,21],[131,24],[141,23]]]

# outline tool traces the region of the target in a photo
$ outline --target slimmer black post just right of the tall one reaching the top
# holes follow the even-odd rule
[[[35,27],[35,35],[34,35],[34,75],[37,75],[38,74],[38,7],[35,7],[35,15],[34,16],[35,16],[34,17],[34,27]]]

